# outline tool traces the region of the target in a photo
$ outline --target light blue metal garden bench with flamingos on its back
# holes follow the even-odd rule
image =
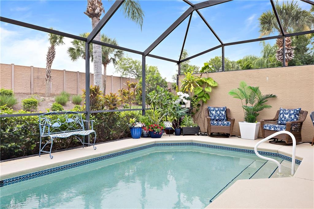
[[[85,130],[84,122],[91,122],[92,129]],[[93,120],[83,120],[81,113],[72,111],[54,111],[39,115],[39,157],[41,153],[49,153],[50,158],[53,158],[53,156],[51,155],[51,148],[54,138],[67,138],[70,136],[74,136],[83,144],[83,148],[84,145],[87,144],[93,145],[93,148],[95,150],[96,132],[93,130],[93,122]],[[88,136],[91,133],[95,134],[94,143],[86,143],[85,136]],[[83,141],[78,136],[83,136]],[[41,148],[41,139],[43,137],[49,137],[50,139]],[[43,151],[43,149],[49,142],[51,142],[50,151]]]

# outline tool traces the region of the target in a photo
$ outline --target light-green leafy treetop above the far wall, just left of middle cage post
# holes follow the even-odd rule
[[[142,77],[142,62],[133,60],[131,57],[123,57],[116,63],[116,72],[124,77],[134,77],[139,79]]]

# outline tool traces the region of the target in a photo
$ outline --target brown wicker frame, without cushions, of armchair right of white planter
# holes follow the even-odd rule
[[[268,137],[269,135],[272,135],[273,133],[277,132],[277,131],[264,129],[264,125],[265,124],[277,125],[278,124],[279,111],[280,110],[277,111],[276,116],[273,119],[261,120],[261,129],[262,129],[263,138]],[[297,121],[288,121],[286,123],[285,130],[290,131],[295,136],[296,142],[302,141],[301,130],[302,130],[303,121],[305,121],[305,119],[306,119],[306,115],[307,115],[307,111],[300,110],[299,118]],[[279,134],[273,138],[278,139],[278,140],[284,140],[286,142],[286,144],[292,144],[292,138],[288,134]]]

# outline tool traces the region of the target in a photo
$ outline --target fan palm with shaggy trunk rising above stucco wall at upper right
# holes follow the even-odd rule
[[[281,19],[281,25],[284,33],[294,33],[300,31],[311,30],[314,25],[314,16],[310,11],[302,9],[297,2],[287,1],[279,4],[275,3],[278,16]],[[264,12],[259,18],[261,36],[269,35],[275,31],[280,33],[280,28],[273,11]],[[282,48],[283,40],[277,39],[276,59],[280,62],[283,60]],[[291,46],[291,37],[285,37],[285,66],[294,58],[294,46]]]

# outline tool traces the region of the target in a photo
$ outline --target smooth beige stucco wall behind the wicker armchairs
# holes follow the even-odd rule
[[[314,127],[309,114],[314,110],[314,65],[203,74],[203,77],[207,76],[213,78],[218,86],[213,88],[210,93],[211,98],[206,106],[227,106],[230,108],[231,117],[236,120],[233,134],[240,136],[238,122],[243,121],[243,110],[241,101],[232,98],[228,92],[232,88],[237,88],[240,81],[243,80],[248,85],[259,86],[262,94],[276,94],[278,96],[269,99],[268,104],[273,107],[261,111],[257,118],[258,121],[273,118],[280,107],[301,107],[302,110],[309,112],[303,123],[302,141],[312,141]],[[184,78],[183,75],[179,76],[179,79],[182,78]],[[179,83],[179,85],[181,84]],[[202,122],[199,125],[203,126]],[[205,125],[207,126],[207,124]],[[261,137],[261,132],[259,137]]]

